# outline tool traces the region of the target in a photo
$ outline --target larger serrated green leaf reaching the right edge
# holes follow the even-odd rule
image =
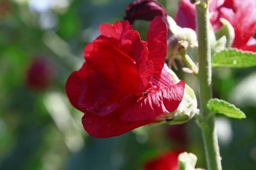
[[[236,48],[224,49],[213,55],[212,68],[242,68],[256,66],[256,53]]]

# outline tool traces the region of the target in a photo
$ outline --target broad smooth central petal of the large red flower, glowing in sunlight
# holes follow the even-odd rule
[[[87,65],[102,79],[111,82],[123,96],[140,93],[140,77],[134,59],[124,53],[118,40],[100,36],[84,50]]]

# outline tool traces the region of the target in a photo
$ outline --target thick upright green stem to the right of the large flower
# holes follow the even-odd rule
[[[203,118],[210,111],[207,102],[212,98],[212,68],[211,48],[209,42],[209,11],[205,3],[196,6],[197,31],[198,31],[198,79],[200,85],[200,110]],[[215,130],[215,116],[208,119],[207,124],[201,126],[204,148],[207,159],[207,170],[222,170],[218,139]]]

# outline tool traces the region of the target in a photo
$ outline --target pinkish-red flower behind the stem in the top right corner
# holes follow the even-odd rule
[[[221,28],[220,18],[228,20],[235,30],[232,47],[256,52],[256,1],[255,0],[212,0],[209,12],[213,12],[210,22],[216,31]],[[195,30],[195,5],[182,0],[176,15],[177,24]]]

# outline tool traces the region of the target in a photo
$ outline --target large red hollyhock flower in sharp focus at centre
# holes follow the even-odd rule
[[[86,62],[67,80],[71,104],[84,112],[84,129],[112,137],[159,122],[179,106],[185,82],[167,71],[167,28],[151,22],[146,42],[127,20],[99,27],[100,36],[84,49]]]

